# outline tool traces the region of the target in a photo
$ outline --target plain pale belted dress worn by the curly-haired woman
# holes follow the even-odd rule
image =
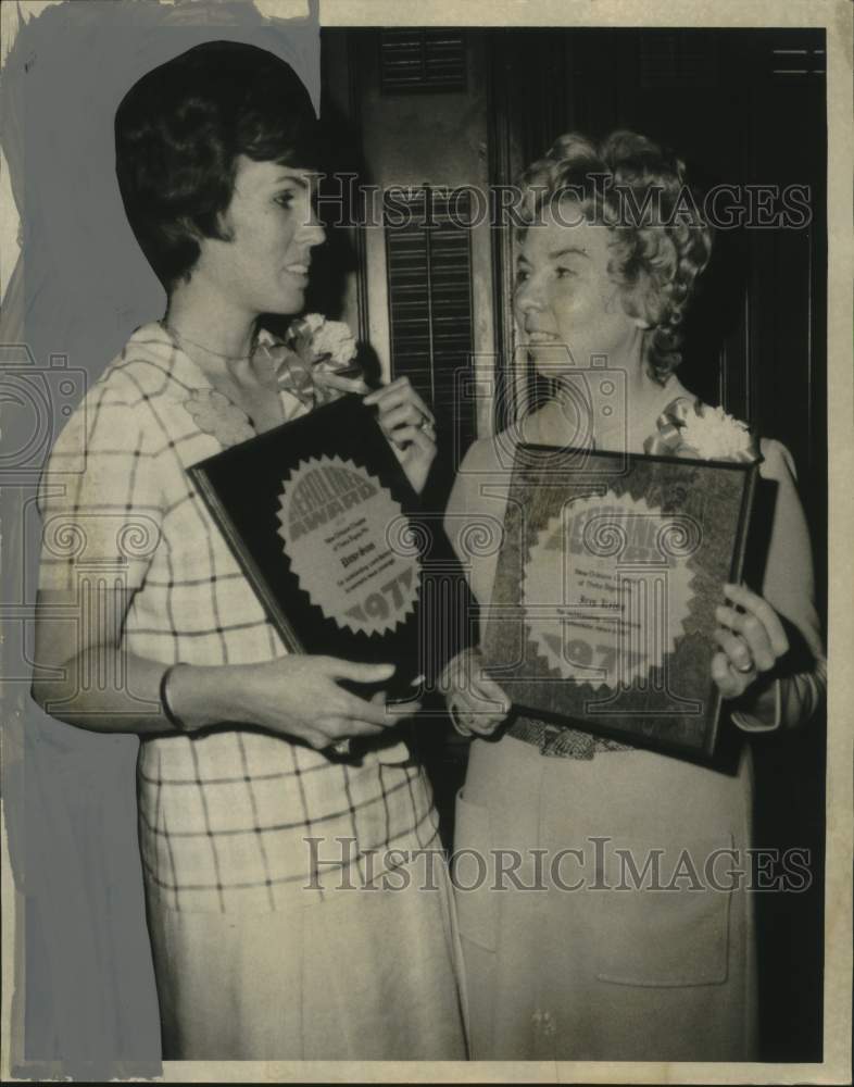
[[[547,441],[536,417],[529,423],[527,440]],[[513,447],[505,432],[469,450],[449,502],[452,540],[478,516],[503,523]],[[771,726],[732,715],[744,732],[806,720],[824,688],[791,458],[774,441],[762,451],[761,476],[777,491],[762,591],[801,633],[811,664],[776,682]],[[497,555],[460,553],[488,603]],[[564,730],[560,744],[517,738],[538,732],[517,717],[498,738],[474,739],[457,800],[454,885],[473,1058],[755,1059],[749,745],[723,772],[580,729]],[[648,863],[657,878],[654,867],[644,878]]]

